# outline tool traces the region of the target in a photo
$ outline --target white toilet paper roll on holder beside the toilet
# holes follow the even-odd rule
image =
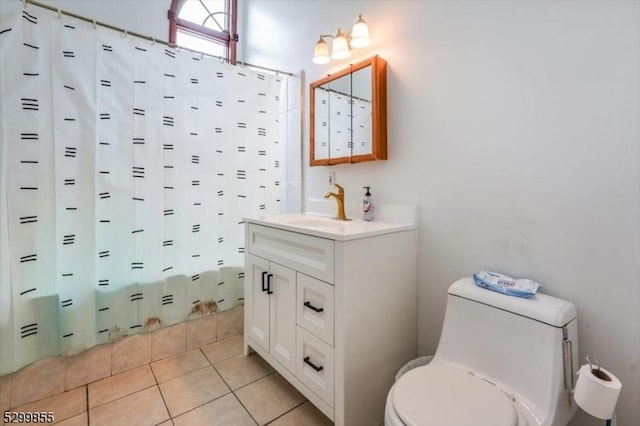
[[[604,420],[613,415],[621,389],[622,383],[611,372],[604,368],[598,372],[585,364],[578,371],[573,397],[584,411]]]

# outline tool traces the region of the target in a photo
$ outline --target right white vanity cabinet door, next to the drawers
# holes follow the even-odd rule
[[[269,352],[295,373],[296,273],[277,263],[269,265],[271,290],[271,344]]]

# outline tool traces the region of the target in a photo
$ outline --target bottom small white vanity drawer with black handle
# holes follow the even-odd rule
[[[333,348],[300,326],[296,330],[296,377],[333,407]]]

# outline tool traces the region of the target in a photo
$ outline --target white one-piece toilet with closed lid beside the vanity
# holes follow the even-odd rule
[[[578,369],[574,304],[453,283],[438,349],[391,387],[385,426],[566,425]]]

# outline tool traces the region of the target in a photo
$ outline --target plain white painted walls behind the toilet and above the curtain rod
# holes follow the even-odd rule
[[[169,0],[48,4],[168,38]],[[420,206],[420,352],[437,346],[447,286],[481,268],[539,280],[578,307],[580,357],[623,383],[640,419],[640,3],[240,0],[247,62],[305,70],[321,33],[363,13],[388,61],[389,160],[329,170],[357,201]],[[20,6],[0,0],[0,13]],[[308,98],[307,98],[308,99]],[[308,118],[304,162],[308,162]],[[600,424],[579,413],[574,425]]]

